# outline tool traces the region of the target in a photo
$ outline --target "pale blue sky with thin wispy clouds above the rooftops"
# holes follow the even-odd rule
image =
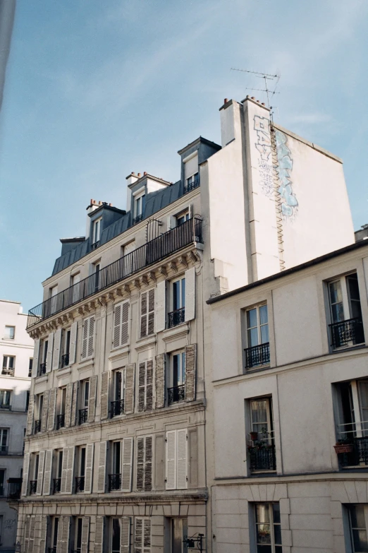
[[[18,0],[0,297],[39,304],[91,198],[124,209],[132,171],[176,182],[180,148],[220,143],[223,98],[265,101],[248,90],[260,78],[231,68],[281,75],[276,123],[343,158],[355,230],[367,223],[367,16],[367,0]]]

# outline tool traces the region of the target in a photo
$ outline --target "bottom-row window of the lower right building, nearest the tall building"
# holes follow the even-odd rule
[[[254,511],[257,553],[282,553],[280,504],[256,503]]]

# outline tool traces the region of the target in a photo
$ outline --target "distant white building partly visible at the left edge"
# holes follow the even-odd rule
[[[23,471],[33,357],[26,326],[20,302],[0,299],[0,552],[13,552],[16,547],[17,512],[6,498]]]

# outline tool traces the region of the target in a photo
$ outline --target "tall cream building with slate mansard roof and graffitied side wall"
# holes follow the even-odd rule
[[[30,309],[26,552],[210,551],[206,301],[354,241],[341,160],[250,97],[220,113],[221,146],[179,150],[178,182],[132,173],[126,212],[90,202]]]

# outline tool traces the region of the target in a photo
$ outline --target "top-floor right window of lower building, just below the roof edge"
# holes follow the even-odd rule
[[[331,346],[335,349],[364,343],[357,273],[332,280],[328,289]]]

